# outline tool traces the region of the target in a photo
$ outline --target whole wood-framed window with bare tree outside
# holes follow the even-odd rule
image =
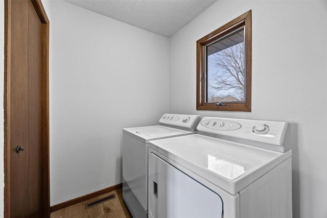
[[[251,10],[197,41],[197,110],[251,111]]]

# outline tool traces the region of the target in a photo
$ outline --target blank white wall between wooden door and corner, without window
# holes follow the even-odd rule
[[[62,1],[51,1],[50,24],[56,205],[122,182],[122,128],[169,110],[169,39]]]

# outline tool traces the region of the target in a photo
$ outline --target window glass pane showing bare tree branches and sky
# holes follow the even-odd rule
[[[244,102],[244,27],[206,46],[206,102]]]

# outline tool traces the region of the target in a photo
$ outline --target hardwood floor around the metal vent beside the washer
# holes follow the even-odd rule
[[[114,199],[102,204],[85,209],[85,204],[99,200],[109,195],[115,195]],[[72,205],[51,213],[51,218],[131,218],[125,202],[123,201],[122,189],[110,191],[104,195],[92,198],[88,201]]]

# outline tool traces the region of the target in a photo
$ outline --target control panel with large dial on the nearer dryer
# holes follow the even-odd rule
[[[286,151],[285,135],[288,123],[268,120],[233,119],[220,117],[203,117],[197,127],[198,131],[217,138],[236,138],[237,142],[265,144],[263,147],[276,151]]]

